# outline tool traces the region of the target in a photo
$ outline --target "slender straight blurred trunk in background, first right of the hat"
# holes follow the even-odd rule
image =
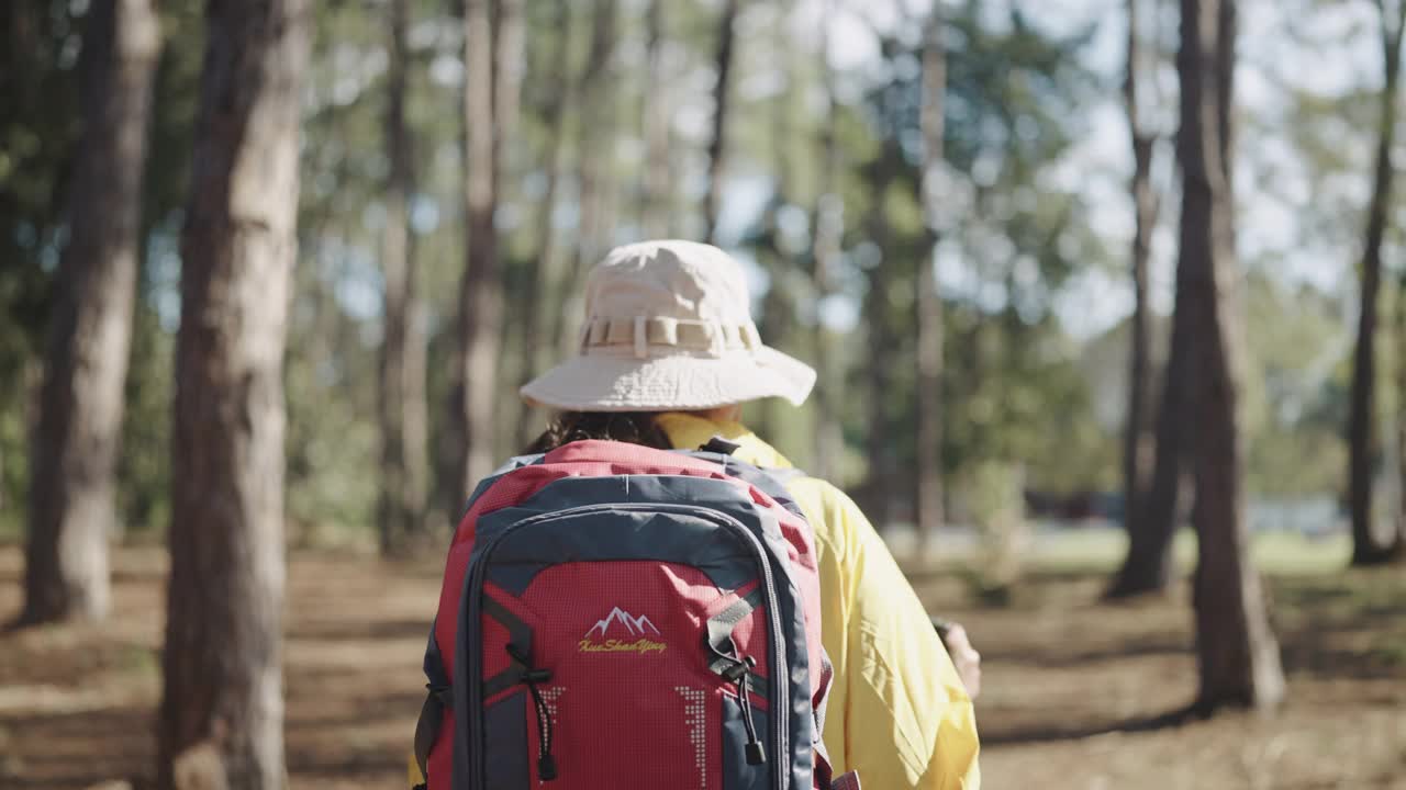
[[[938,245],[942,242],[945,190],[943,110],[948,90],[946,32],[942,3],[934,3],[922,37],[922,177],[927,257],[918,259],[918,294],[912,299],[917,342],[917,475],[914,516],[918,537],[932,538],[942,526],[942,297],[938,294]]]

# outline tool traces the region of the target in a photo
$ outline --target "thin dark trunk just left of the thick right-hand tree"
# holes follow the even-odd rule
[[[1152,233],[1157,225],[1159,200],[1152,186],[1152,163],[1157,135],[1149,131],[1140,110],[1142,39],[1137,30],[1137,0],[1128,0],[1128,51],[1123,76],[1123,104],[1133,148],[1133,245],[1132,281],[1133,315],[1130,318],[1128,360],[1128,417],[1123,425],[1123,524],[1128,530],[1128,555],[1109,597],[1126,597],[1166,590],[1171,583],[1171,537],[1177,523],[1177,489],[1181,475],[1180,420],[1185,356],[1177,344],[1185,343],[1185,328],[1173,335],[1173,361],[1166,371],[1161,416],[1157,420],[1154,474],[1147,491],[1143,458],[1153,437],[1149,434],[1147,388],[1150,381],[1152,313],[1147,306],[1147,266],[1152,259]],[[1153,83],[1154,84],[1154,83]],[[1166,444],[1164,444],[1166,443]]]

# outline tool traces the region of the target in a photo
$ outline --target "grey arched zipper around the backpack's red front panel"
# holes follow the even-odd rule
[[[602,510],[634,510],[634,512],[650,512],[650,513],[683,513],[689,516],[697,516],[707,522],[721,524],[730,531],[741,536],[741,543],[751,550],[754,559],[756,561],[758,571],[761,572],[763,582],[763,592],[766,595],[766,614],[768,614],[768,634],[766,634],[766,648],[770,652],[772,663],[772,682],[770,682],[770,697],[768,700],[770,707],[772,720],[772,753],[775,755],[789,755],[789,738],[787,738],[787,723],[790,718],[790,673],[786,662],[786,651],[780,645],[782,634],[782,619],[778,611],[778,597],[775,576],[772,574],[772,564],[768,559],[768,552],[762,540],[747,527],[742,522],[714,510],[711,507],[703,507],[699,505],[672,505],[672,503],[600,503],[600,505],[583,505],[579,507],[568,507],[565,510],[554,510],[551,513],[540,513],[537,516],[530,516],[520,522],[513,522],[503,527],[498,534],[491,537],[484,545],[482,554],[470,561],[468,578],[465,581],[464,595],[468,597],[468,619],[467,623],[481,623],[482,621],[482,599],[484,599],[484,569],[488,566],[488,561],[498,548],[498,544],[509,534],[517,531],[522,527],[541,524],[546,522],[554,522],[561,519],[572,519],[576,516],[583,516],[586,513],[595,513]],[[460,649],[468,648],[464,641],[464,628],[460,628]],[[468,787],[470,790],[484,789],[484,755],[482,755],[482,708],[484,708],[484,669],[482,669],[482,651],[468,649],[468,710],[465,715],[468,717],[468,728],[465,737],[470,745],[474,748],[468,749]],[[772,786],[775,790],[786,790],[790,782],[790,769],[787,768],[789,760],[776,763],[772,770]]]

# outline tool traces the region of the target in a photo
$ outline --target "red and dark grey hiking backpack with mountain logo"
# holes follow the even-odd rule
[[[429,790],[832,786],[814,538],[735,447],[578,441],[478,485],[425,654]]]

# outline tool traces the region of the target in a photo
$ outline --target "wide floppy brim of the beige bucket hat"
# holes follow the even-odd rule
[[[721,357],[582,354],[537,377],[520,394],[534,406],[569,412],[669,412],[762,398],[799,406],[814,385],[810,365],[762,346]]]

